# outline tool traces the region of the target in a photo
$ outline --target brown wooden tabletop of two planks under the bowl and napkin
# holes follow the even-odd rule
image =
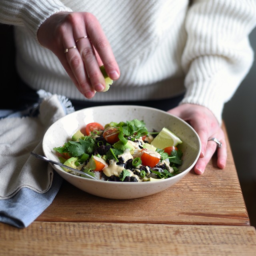
[[[228,144],[224,170],[216,168],[214,156],[203,175],[191,171],[174,186],[144,198],[100,198],[64,181],[28,228],[0,223],[0,246],[4,256],[255,256],[256,231]]]

